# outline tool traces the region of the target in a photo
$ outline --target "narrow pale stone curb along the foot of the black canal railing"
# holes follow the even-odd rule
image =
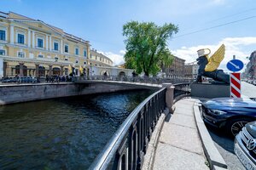
[[[143,170],[153,169],[155,150],[157,148],[157,144],[160,138],[160,133],[164,126],[166,116],[168,114],[170,113],[169,113],[169,110],[166,108],[166,110],[161,114],[159,121],[157,122],[154,128],[154,132],[152,133],[151,139],[148,143],[148,149],[147,149],[146,155],[144,156],[143,167],[142,167]]]

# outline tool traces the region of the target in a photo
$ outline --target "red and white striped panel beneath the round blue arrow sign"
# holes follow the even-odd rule
[[[241,98],[241,74],[240,72],[230,73],[230,97]]]

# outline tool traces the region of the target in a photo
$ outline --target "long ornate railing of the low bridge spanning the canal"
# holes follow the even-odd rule
[[[162,84],[164,82],[187,83],[192,82],[188,78],[160,78],[160,77],[119,77],[119,76],[91,76],[91,77],[76,77],[77,80],[102,80],[102,81],[118,81],[118,82],[142,82],[150,84]]]

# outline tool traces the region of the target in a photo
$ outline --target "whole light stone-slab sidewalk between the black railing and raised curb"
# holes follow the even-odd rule
[[[176,110],[160,133],[153,169],[209,169],[195,125],[195,100],[181,99],[175,104]]]

